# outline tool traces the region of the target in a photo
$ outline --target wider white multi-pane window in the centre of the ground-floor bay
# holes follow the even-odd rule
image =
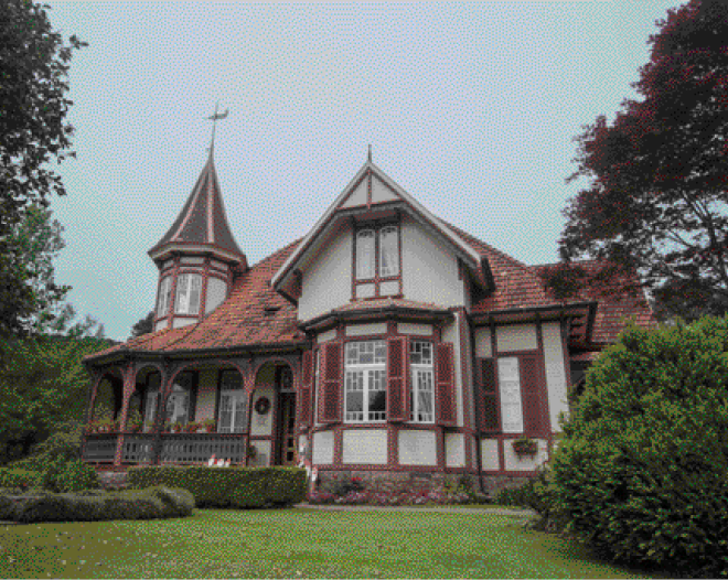
[[[350,422],[387,418],[387,344],[385,341],[346,344],[344,408]]]

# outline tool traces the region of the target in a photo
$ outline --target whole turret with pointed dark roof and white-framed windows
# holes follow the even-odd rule
[[[231,233],[213,148],[176,221],[149,250],[159,268],[154,330],[200,322],[227,298],[247,259]]]

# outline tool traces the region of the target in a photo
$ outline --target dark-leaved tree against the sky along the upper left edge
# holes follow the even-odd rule
[[[62,300],[63,289],[46,287],[38,296],[32,264],[19,261],[15,230],[28,219],[29,205],[42,207],[65,194],[52,160],[68,151],[73,127],[65,122],[72,101],[68,62],[85,46],[68,44],[53,31],[45,6],[6,0],[0,10],[0,334],[28,333],[28,316]]]

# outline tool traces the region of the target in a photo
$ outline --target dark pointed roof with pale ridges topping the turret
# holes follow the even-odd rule
[[[169,251],[185,248],[212,251],[227,260],[246,262],[245,254],[235,241],[227,223],[212,147],[207,162],[180,215],[162,239],[149,250],[149,256],[157,260]]]

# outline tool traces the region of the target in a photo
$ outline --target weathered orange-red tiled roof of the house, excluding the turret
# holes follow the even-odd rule
[[[495,290],[472,305],[473,313],[485,313],[511,309],[532,309],[560,305],[565,302],[550,298],[538,273],[548,265],[526,266],[492,246],[447,224],[475,251],[488,259]],[[214,350],[246,346],[275,346],[304,342],[304,334],[298,329],[297,309],[272,290],[270,279],[300,244],[300,239],[279,249],[268,258],[247,270],[236,279],[228,299],[202,322],[182,329],[163,330],[131,339],[122,345],[114,346],[89,358],[130,350],[137,352],[176,352]],[[580,262],[588,269],[596,262]],[[596,297],[584,291],[566,303],[597,300],[599,302],[592,343],[612,342],[624,326],[623,319],[634,316],[644,326],[655,324],[654,316],[644,297],[620,296],[619,284],[609,297]],[[428,312],[447,312],[448,309],[405,299],[382,299],[351,302],[330,313],[353,313],[372,309],[404,308]],[[587,345],[588,346],[588,345]]]

